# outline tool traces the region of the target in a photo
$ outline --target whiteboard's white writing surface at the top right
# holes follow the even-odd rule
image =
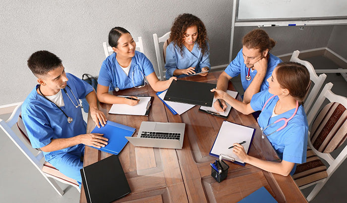
[[[347,18],[347,0],[238,0],[236,20]]]

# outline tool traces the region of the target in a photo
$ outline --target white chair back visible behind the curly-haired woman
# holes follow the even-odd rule
[[[156,56],[157,56],[157,62],[158,62],[158,72],[159,72],[160,80],[164,80],[166,78],[165,77],[166,70],[165,70],[164,66],[165,66],[166,48],[170,44],[170,41],[169,41],[170,33],[171,32],[167,32],[165,35],[163,35],[160,38],[158,38],[158,35],[156,33],[153,34],[154,48],[156,50]],[[161,54],[159,43],[164,43],[163,44],[163,55]],[[162,58],[163,58],[163,60],[162,60]],[[163,63],[163,61],[164,61],[164,63]]]

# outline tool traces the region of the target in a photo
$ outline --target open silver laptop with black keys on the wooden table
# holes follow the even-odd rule
[[[182,149],[185,123],[142,121],[137,137],[125,137],[136,147]]]

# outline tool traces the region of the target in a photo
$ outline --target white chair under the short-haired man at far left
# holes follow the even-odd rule
[[[24,123],[21,119],[21,106],[22,102],[15,103],[13,105],[0,106],[0,114],[9,113],[8,111],[14,108],[12,114],[10,115],[7,121],[0,119],[1,129],[16,145],[16,147],[21,152],[23,152],[23,154],[30,160],[30,162],[38,169],[38,171],[51,184],[51,186],[57,191],[59,195],[63,195],[64,191],[58,186],[55,180],[71,185],[75,187],[78,190],[78,192],[81,192],[76,180],[65,176],[64,174],[60,173],[59,170],[52,166],[49,162],[44,161],[44,155],[41,151],[37,150],[37,154],[35,155],[33,152],[29,150],[28,146],[31,147],[31,144],[26,133]],[[17,127],[20,131],[17,134],[12,130],[14,124],[17,124]],[[20,137],[22,139],[20,139]],[[24,142],[22,140],[24,140]]]

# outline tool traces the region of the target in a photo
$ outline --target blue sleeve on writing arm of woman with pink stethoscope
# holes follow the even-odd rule
[[[304,163],[307,152],[307,126],[292,126],[287,132],[282,159],[292,163]]]

